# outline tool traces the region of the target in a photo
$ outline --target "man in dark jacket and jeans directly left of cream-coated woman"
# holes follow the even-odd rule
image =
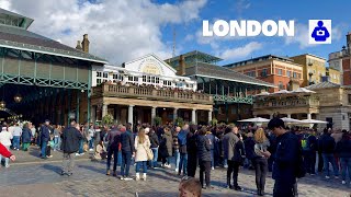
[[[132,155],[135,154],[132,129],[126,130],[125,127],[122,127],[120,140],[122,151],[121,179],[131,181],[133,178],[129,177],[129,166]]]

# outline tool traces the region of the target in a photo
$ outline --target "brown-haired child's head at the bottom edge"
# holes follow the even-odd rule
[[[179,184],[179,197],[201,197],[200,181],[185,176]]]

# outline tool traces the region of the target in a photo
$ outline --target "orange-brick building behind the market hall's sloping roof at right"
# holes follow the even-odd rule
[[[303,67],[287,57],[267,55],[224,66],[240,73],[273,83],[269,92],[288,90],[291,79],[303,83]]]

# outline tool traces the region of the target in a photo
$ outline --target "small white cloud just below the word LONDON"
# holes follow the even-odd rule
[[[239,58],[248,57],[256,50],[260,50],[262,48],[262,44],[258,42],[251,42],[245,46],[237,48],[229,48],[219,54],[219,57],[225,60],[235,60]]]

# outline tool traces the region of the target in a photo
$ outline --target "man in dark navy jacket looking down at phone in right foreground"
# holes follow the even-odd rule
[[[294,184],[297,177],[303,177],[303,165],[299,141],[296,135],[285,130],[284,121],[278,117],[268,124],[269,129],[276,136],[275,154],[261,152],[265,158],[273,157],[272,178],[275,181],[273,197],[294,196]]]

